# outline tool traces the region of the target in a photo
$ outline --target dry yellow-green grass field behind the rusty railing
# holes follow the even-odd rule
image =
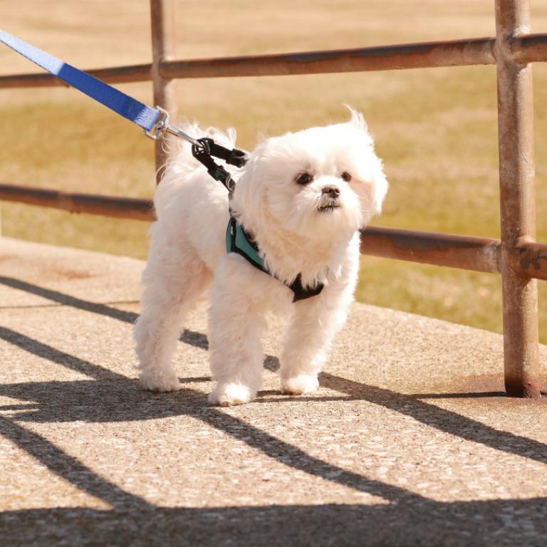
[[[68,2],[56,4],[72,9]],[[459,0],[451,4],[450,13],[441,9],[444,3],[432,0],[413,3],[412,10],[403,0],[371,1],[366,8],[357,0],[307,1],[292,11],[288,2],[251,12],[244,9],[245,4],[235,2],[229,8],[217,2],[212,7],[192,3],[183,8],[180,4],[184,23],[178,29],[179,56],[356,47],[485,36],[494,31],[490,2]],[[105,9],[106,4],[98,5]],[[305,6],[313,6],[307,16]],[[217,19],[212,19],[213,8],[220,12]],[[404,17],[395,16],[403,12]],[[241,15],[245,23],[241,36],[236,36],[234,28],[226,31],[227,36],[219,35],[225,21],[223,14],[231,21]],[[335,20],[333,26],[325,22],[329,14]],[[534,29],[541,31],[543,24],[547,30],[547,9],[536,9],[534,15],[538,21]],[[306,25],[302,24],[303,18],[307,18]],[[139,21],[132,19],[130,28],[146,28],[147,21]],[[64,34],[59,31],[55,36],[60,40]],[[127,40],[121,32],[124,56],[131,53]],[[60,41],[58,47],[62,50],[68,46]],[[142,43],[135,45],[137,58],[123,60],[147,61],[142,48]],[[60,56],[63,53],[55,51]],[[98,52],[78,53],[83,57],[80,63],[77,58],[69,60],[82,66],[120,62],[100,58]],[[27,65],[13,70],[21,67],[31,70]],[[545,66],[534,67],[534,86],[538,240],[547,241],[543,220],[547,216]],[[140,100],[152,102],[149,85],[120,87]],[[275,135],[342,120],[347,115],[342,104],[349,103],[365,114],[390,180],[384,212],[375,224],[499,236],[493,67],[180,80],[178,94],[182,114],[203,125],[236,127],[242,147],[252,147],[259,133]],[[0,178],[4,182],[75,192],[152,196],[151,142],[130,123],[118,120],[74,90],[1,91],[0,116],[5,127],[14,127],[0,133]],[[6,236],[146,256],[147,223],[6,203],[1,206],[1,214]],[[540,288],[541,339],[547,343],[543,283]],[[493,274],[363,257],[357,296],[360,301],[379,306],[501,331],[501,281]]]

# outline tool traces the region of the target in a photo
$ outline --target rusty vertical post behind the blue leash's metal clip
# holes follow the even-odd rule
[[[172,118],[177,115],[175,80],[166,80],[160,74],[160,63],[174,55],[174,6],[172,0],[150,0],[152,23],[152,83],[154,104],[165,108]],[[169,155],[172,135],[165,135],[155,142],[156,184],[160,182],[163,166]]]

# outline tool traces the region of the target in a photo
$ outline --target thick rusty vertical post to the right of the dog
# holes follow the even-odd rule
[[[540,397],[538,288],[513,267],[516,247],[536,237],[531,65],[511,56],[511,41],[529,32],[528,0],[496,0],[501,278],[507,395]]]

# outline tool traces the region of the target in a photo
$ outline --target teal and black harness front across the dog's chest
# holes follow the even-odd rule
[[[264,266],[264,260],[260,256],[259,246],[256,245],[256,241],[245,231],[244,227],[237,222],[235,217],[230,217],[228,223],[228,229],[226,229],[226,252],[227,253],[237,253],[260,271],[268,273],[268,275],[273,275],[267,268]],[[302,276],[298,273],[296,279],[290,285],[287,285],[288,288],[293,291],[293,302],[299,300],[305,300],[306,298],[311,298],[312,296],[317,296],[321,291],[323,291],[323,283],[319,283],[315,287],[306,287],[302,286]]]

